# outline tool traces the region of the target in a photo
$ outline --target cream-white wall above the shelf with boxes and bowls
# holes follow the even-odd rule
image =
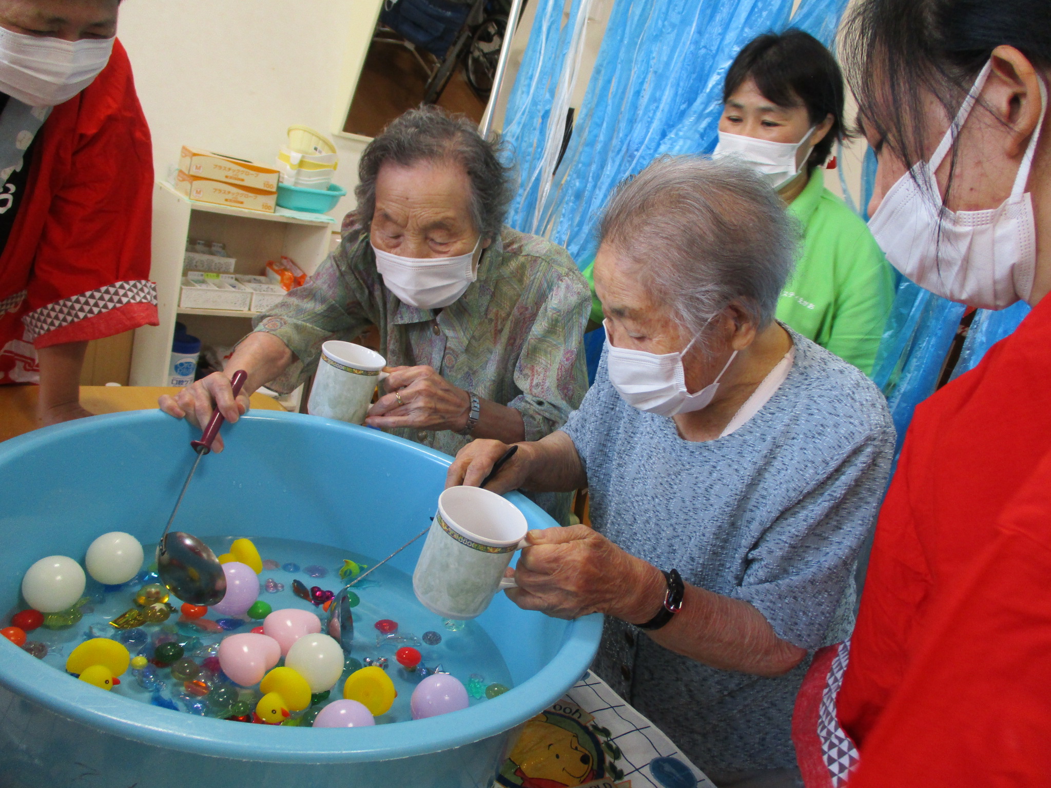
[[[382,0],[125,0],[128,50],[159,179],[183,145],[271,163],[295,123],[339,149],[357,182],[364,143],[337,137]],[[353,207],[345,198],[333,215]]]

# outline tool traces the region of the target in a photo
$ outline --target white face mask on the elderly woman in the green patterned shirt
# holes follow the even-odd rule
[[[403,257],[375,245],[372,251],[388,290],[413,307],[440,309],[459,298],[478,278],[481,237],[473,251],[455,257]]]

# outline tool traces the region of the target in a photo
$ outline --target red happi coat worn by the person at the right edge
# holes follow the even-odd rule
[[[860,750],[849,788],[1051,785],[1049,349],[1044,298],[916,409],[842,689],[816,658],[797,703],[808,788],[843,784],[820,769],[841,734]],[[840,725],[821,728],[822,705]]]

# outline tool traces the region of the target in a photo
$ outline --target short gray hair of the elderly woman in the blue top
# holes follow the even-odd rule
[[[599,243],[639,269],[642,284],[706,347],[704,329],[730,304],[758,330],[774,319],[800,239],[781,198],[730,160],[661,157],[622,182]]]

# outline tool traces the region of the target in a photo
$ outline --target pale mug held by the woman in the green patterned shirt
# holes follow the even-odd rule
[[[376,386],[388,373],[387,359],[360,345],[329,339],[322,345],[307,413],[352,424],[365,422]]]

